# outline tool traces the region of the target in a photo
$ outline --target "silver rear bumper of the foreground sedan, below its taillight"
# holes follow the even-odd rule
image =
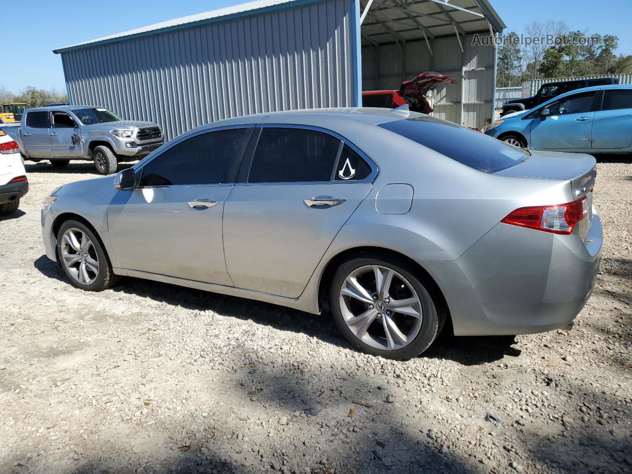
[[[531,334],[571,324],[592,294],[602,227],[582,241],[497,224],[453,262],[420,262],[439,283],[454,334]]]

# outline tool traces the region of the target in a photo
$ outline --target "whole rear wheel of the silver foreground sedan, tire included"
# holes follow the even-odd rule
[[[330,306],[348,341],[363,352],[409,359],[425,351],[445,315],[405,261],[357,257],[332,281]]]

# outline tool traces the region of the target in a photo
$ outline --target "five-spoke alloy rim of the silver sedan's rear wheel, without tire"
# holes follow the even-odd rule
[[[339,302],[349,330],[376,349],[401,349],[422,327],[422,303],[415,288],[382,265],[351,272],[340,289]]]

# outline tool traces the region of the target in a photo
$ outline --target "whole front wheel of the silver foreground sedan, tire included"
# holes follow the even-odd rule
[[[66,221],[57,233],[57,255],[64,273],[77,288],[102,291],[118,283],[99,239],[79,221]]]

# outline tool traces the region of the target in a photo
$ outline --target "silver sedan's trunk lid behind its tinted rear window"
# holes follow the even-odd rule
[[[586,196],[588,217],[579,222],[581,238],[585,238],[592,222],[592,189],[597,176],[597,161],[591,155],[532,151],[525,161],[495,174],[501,176],[523,176],[526,178],[568,179],[571,181],[573,199]],[[564,204],[552,202],[551,204]]]

